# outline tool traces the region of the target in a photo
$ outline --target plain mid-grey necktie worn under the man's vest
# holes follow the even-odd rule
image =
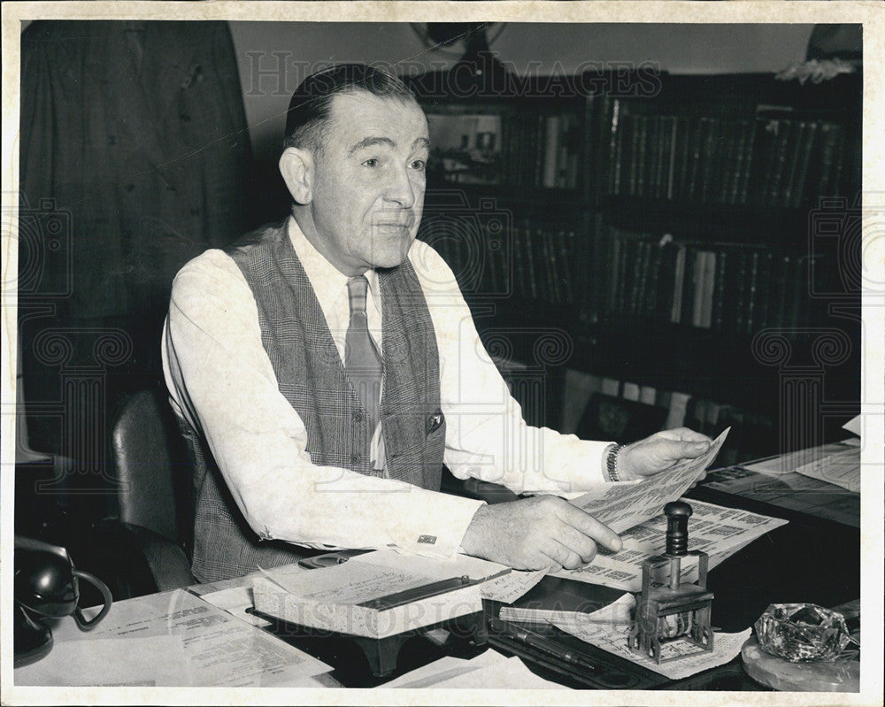
[[[369,414],[369,430],[378,426],[381,406],[381,374],[384,366],[381,356],[369,335],[366,319],[366,291],[369,282],[364,275],[347,280],[350,297],[350,325],[344,339],[344,369],[359,400]]]

